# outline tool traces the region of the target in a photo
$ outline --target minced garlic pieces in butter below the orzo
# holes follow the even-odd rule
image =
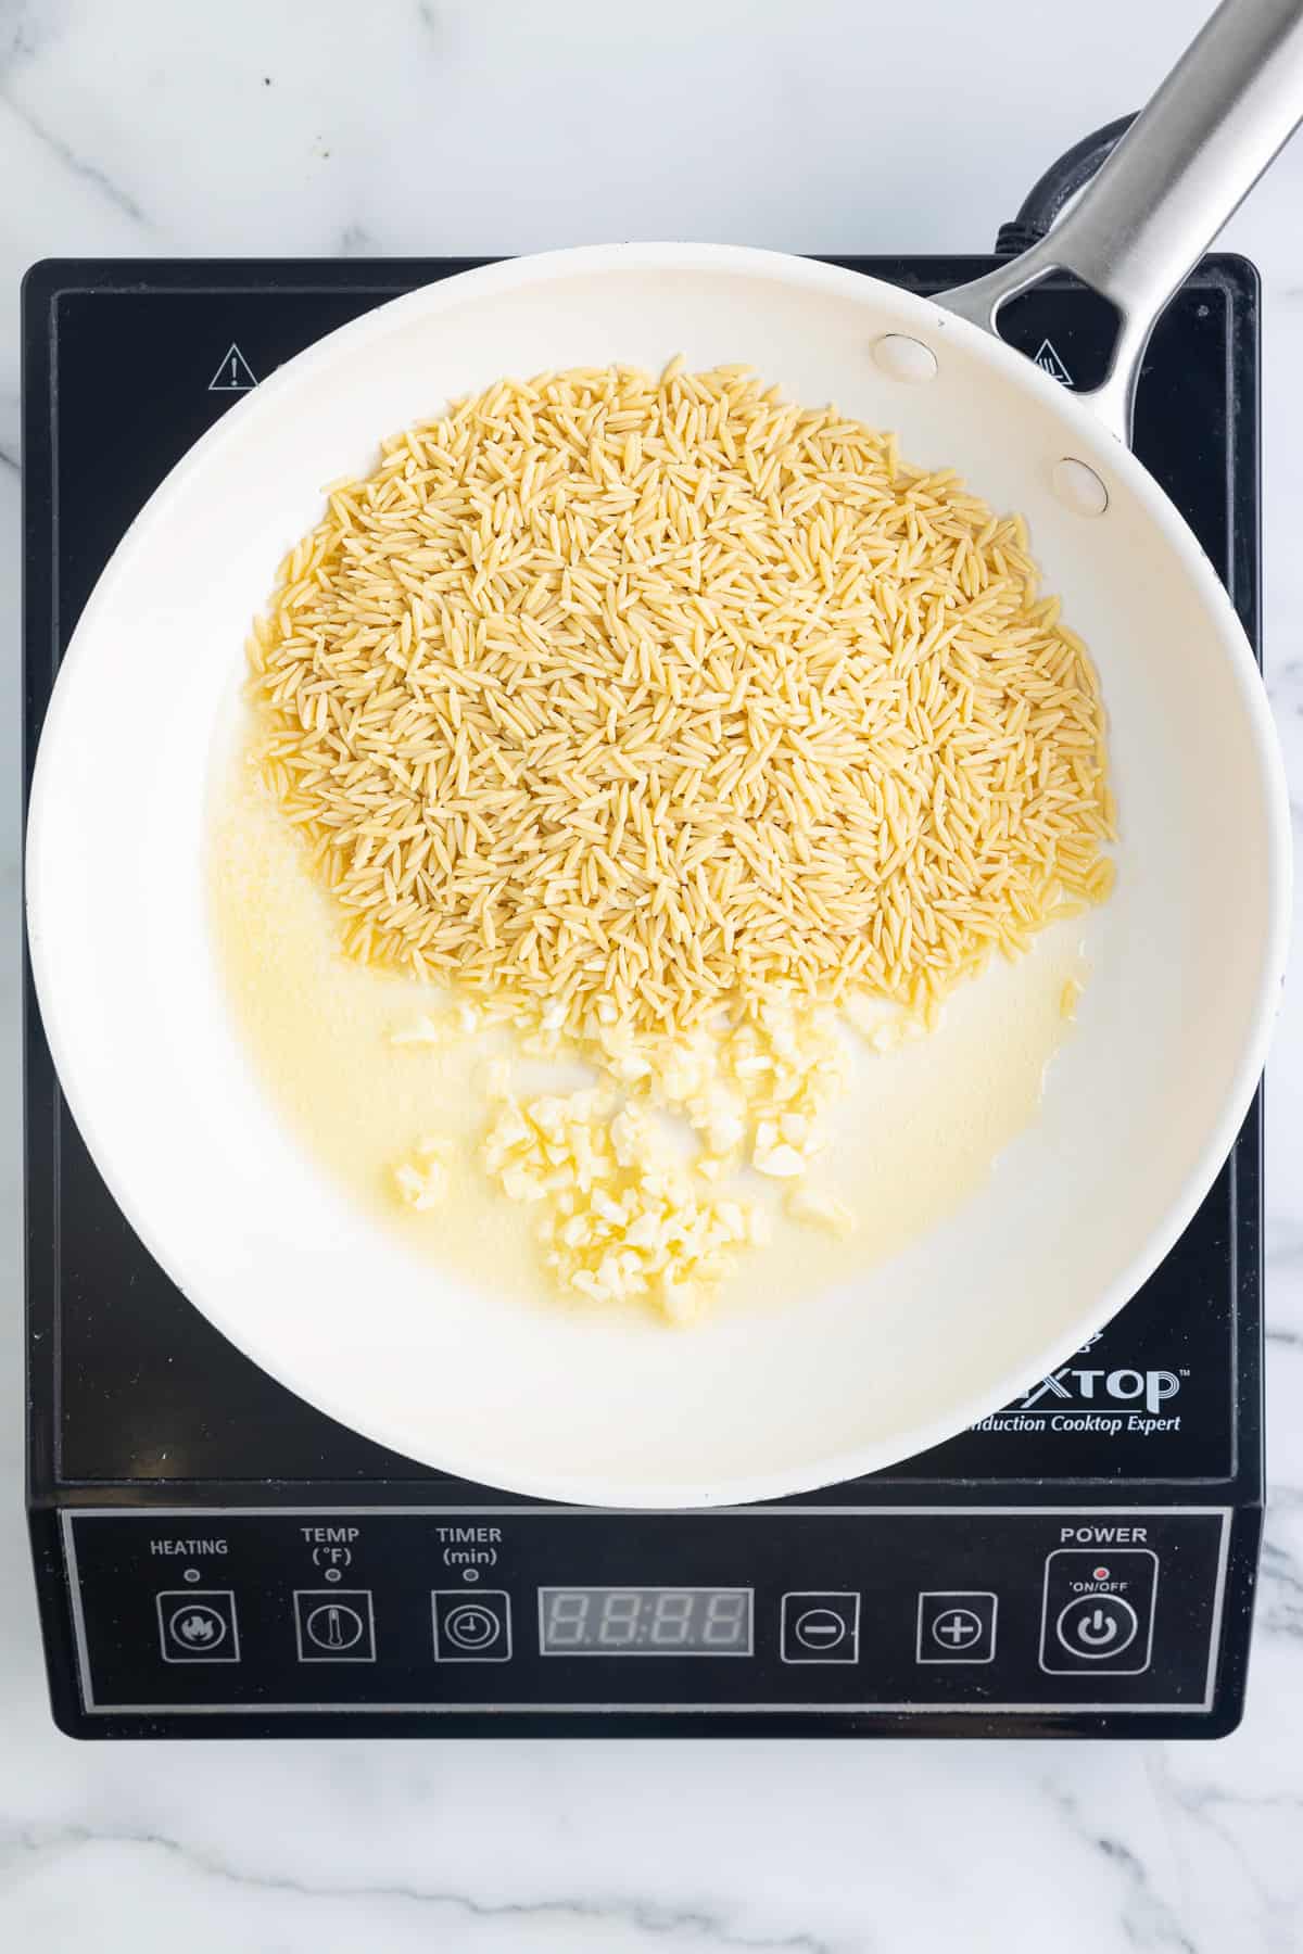
[[[477,1006],[416,1018],[391,1038],[428,1049],[504,1022],[520,1034],[518,1053],[578,1057],[602,1081],[518,1098],[506,1059],[494,1057],[484,1075],[492,1116],[483,1165],[508,1200],[537,1206],[543,1260],[565,1294],[643,1297],[674,1321],[697,1315],[772,1225],[762,1204],[729,1186],[744,1168],[760,1176],[758,1188],[787,1190],[791,1219],[834,1233],[854,1227],[840,1202],[799,1198],[844,1086],[832,1014],[797,1012],[778,997],[733,1026],[639,1038],[598,1008],[574,1040],[555,1014]],[[668,1143],[674,1126],[695,1143],[692,1161]],[[422,1143],[395,1180],[410,1206],[436,1206],[445,1155]]]

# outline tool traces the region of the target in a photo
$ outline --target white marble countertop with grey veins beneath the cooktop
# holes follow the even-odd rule
[[[16,1090],[18,307],[51,254],[985,248],[1199,0],[4,0],[0,975]],[[1268,676],[1303,827],[1303,143],[1266,279]],[[10,1104],[14,1104],[14,1092]],[[1221,1745],[72,1745],[21,1534],[18,1141],[0,1198],[0,1940],[78,1954],[1303,1946],[1303,983],[1270,1094],[1272,1516]]]

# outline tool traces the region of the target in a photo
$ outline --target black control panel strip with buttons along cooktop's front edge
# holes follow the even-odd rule
[[[88,1714],[1188,1710],[1231,1514],[78,1510]]]

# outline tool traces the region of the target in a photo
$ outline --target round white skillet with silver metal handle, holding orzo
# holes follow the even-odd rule
[[[770,1499],[910,1458],[994,1411],[1166,1254],[1262,1069],[1289,823],[1240,625],[1125,440],[1155,315],[1303,111],[1301,12],[1225,6],[1049,240],[944,301],[729,246],[498,264],[291,360],[148,502],[47,715],[31,959],[63,1090],[113,1196],[189,1301],[291,1389],[420,1462],[539,1497]],[[983,330],[1053,266],[1123,313],[1094,399]],[[1028,516],[1047,588],[1102,672],[1121,811],[1082,1022],[988,1188],[858,1284],[692,1335],[469,1294],[354,1211],[246,1063],[201,875],[213,729],[320,485],[500,373],[654,367],[670,352],[836,399],[897,428],[910,459],[955,465]],[[934,377],[899,377],[918,365]],[[1100,514],[1082,512],[1092,496],[1108,498]]]

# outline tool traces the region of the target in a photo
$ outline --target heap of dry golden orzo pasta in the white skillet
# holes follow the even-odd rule
[[[1022,520],[740,367],[397,436],[252,660],[350,952],[572,1028],[926,1008],[1110,885],[1100,694]]]

